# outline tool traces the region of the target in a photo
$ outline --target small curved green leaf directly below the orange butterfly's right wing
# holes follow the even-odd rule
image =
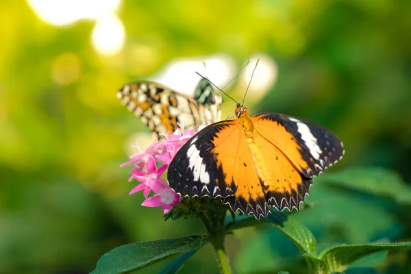
[[[286,236],[297,245],[301,253],[314,255],[316,245],[314,235],[312,235],[307,227],[293,219],[292,216],[288,216],[282,212],[272,212],[262,220],[271,223],[286,234]]]

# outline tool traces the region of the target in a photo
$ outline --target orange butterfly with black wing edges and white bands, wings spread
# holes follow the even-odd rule
[[[299,209],[312,184],[344,155],[343,143],[310,121],[277,113],[214,123],[179,149],[169,184],[188,197],[221,197],[232,210],[266,217],[270,207]]]

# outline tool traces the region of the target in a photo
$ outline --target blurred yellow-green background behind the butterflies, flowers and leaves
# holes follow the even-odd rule
[[[269,73],[256,75],[251,113],[292,114],[332,130],[346,154],[329,172],[380,166],[411,182],[410,14],[406,0],[3,1],[0,273],[88,273],[127,242],[205,233],[197,220],[164,222],[159,208],[140,206],[140,193],[127,194],[129,169],[119,168],[147,129],[116,90],[165,79],[170,64],[185,64],[175,84],[192,79],[193,90],[190,60],[199,70],[212,60],[231,77],[260,57]],[[238,100],[242,79],[227,89]],[[233,110],[225,98],[223,118]],[[311,192],[315,206],[298,216],[320,245],[411,238],[410,204],[321,181]],[[228,236],[227,252],[236,273],[306,273],[292,242],[264,225]],[[410,258],[390,253],[376,271],[411,273]],[[211,247],[181,273],[194,270],[218,271]]]

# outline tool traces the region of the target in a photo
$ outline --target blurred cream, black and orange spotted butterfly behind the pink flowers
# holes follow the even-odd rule
[[[140,117],[155,138],[171,134],[179,127],[197,130],[221,120],[223,98],[216,94],[206,79],[201,79],[194,97],[183,95],[154,82],[125,84],[117,97],[130,112]]]

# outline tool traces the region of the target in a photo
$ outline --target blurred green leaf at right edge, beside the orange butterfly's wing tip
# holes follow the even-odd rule
[[[319,180],[336,186],[387,197],[398,203],[411,204],[410,186],[404,183],[397,173],[387,169],[376,167],[346,169],[338,173],[325,173],[316,181]]]

